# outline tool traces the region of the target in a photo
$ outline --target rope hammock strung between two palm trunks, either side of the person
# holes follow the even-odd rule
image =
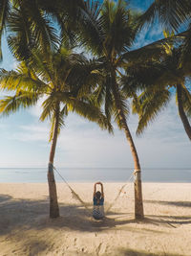
[[[90,212],[90,208],[88,207],[87,203],[85,201],[82,200],[82,198],[79,197],[79,195],[77,195],[74,192],[74,189],[69,185],[69,183],[66,181],[66,179],[60,175],[60,173],[55,169],[55,167],[53,166],[53,169],[55,170],[55,172],[62,178],[62,180],[66,183],[66,185],[68,186],[68,188],[71,190],[71,193],[73,195],[73,198],[78,200],[85,208],[86,210],[88,210]],[[134,176],[135,173],[133,173],[128,180],[126,181],[126,183],[124,185],[121,186],[120,190],[117,193],[117,197],[114,199],[114,201],[112,203],[110,203],[109,207],[107,208],[107,210],[105,211],[105,214],[107,214],[109,212],[109,210],[114,206],[114,204],[116,203],[117,199],[120,197],[120,194],[122,193],[123,189],[127,186],[127,182],[129,182],[131,180],[131,178]]]

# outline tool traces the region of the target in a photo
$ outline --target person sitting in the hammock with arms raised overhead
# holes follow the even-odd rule
[[[96,185],[101,186],[101,192],[96,191]],[[93,209],[93,217],[96,220],[102,220],[105,217],[104,214],[104,193],[103,193],[103,184],[101,182],[95,183],[95,190],[94,190],[94,209]]]

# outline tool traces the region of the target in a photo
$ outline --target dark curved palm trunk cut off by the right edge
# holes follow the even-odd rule
[[[177,84],[177,99],[178,99],[180,119],[183,124],[183,128],[185,129],[185,132],[188,135],[188,138],[191,140],[191,127],[183,109],[181,90],[182,90],[181,84]]]

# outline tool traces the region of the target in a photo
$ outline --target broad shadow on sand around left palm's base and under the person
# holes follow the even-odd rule
[[[49,200],[15,199],[8,195],[0,196],[0,236],[24,226],[37,230],[51,227],[101,232],[118,225],[134,222],[130,216],[124,217],[124,213],[112,211],[103,221],[95,221],[92,211],[87,211],[82,205],[59,203],[59,206],[61,217],[50,219]],[[123,220],[119,220],[120,218]]]

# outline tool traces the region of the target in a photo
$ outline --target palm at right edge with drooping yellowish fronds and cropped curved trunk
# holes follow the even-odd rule
[[[128,74],[123,78],[124,90],[129,90],[130,84],[142,90],[133,101],[133,110],[139,115],[138,134],[168,104],[175,88],[180,119],[188,138],[191,139],[191,87],[186,82],[190,74],[190,63],[182,62],[181,47],[173,49],[165,58],[129,66]]]

